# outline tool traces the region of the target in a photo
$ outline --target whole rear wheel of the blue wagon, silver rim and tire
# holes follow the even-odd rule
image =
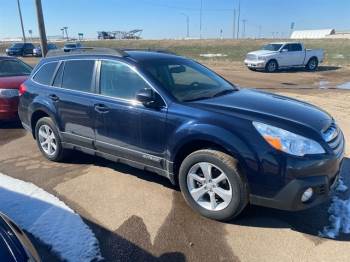
[[[66,155],[55,123],[49,117],[39,119],[35,138],[41,153],[51,161],[61,161]]]

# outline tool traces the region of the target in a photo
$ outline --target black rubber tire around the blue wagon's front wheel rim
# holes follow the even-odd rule
[[[231,184],[232,199],[222,210],[209,210],[199,205],[192,197],[187,176],[190,169],[197,163],[208,162],[220,168]],[[182,162],[179,171],[179,184],[188,205],[201,215],[219,221],[228,221],[238,216],[249,202],[248,187],[245,179],[237,169],[237,161],[230,155],[216,150],[199,150],[193,152]]]

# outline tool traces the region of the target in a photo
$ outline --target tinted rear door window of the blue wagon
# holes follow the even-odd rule
[[[62,87],[66,89],[93,92],[94,60],[70,60],[64,65]]]

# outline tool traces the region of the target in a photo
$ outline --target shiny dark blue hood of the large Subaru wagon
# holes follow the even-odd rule
[[[320,132],[332,123],[333,118],[311,104],[272,93],[241,89],[228,95],[193,102],[195,105],[219,111],[238,113],[251,119],[285,120],[308,126]]]

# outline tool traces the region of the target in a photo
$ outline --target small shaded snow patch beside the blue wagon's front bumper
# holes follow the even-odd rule
[[[336,238],[339,233],[350,233],[350,199],[343,200],[336,194],[346,190],[348,187],[340,178],[335,188],[332,204],[328,209],[330,225],[323,228],[319,234],[321,237]]]

